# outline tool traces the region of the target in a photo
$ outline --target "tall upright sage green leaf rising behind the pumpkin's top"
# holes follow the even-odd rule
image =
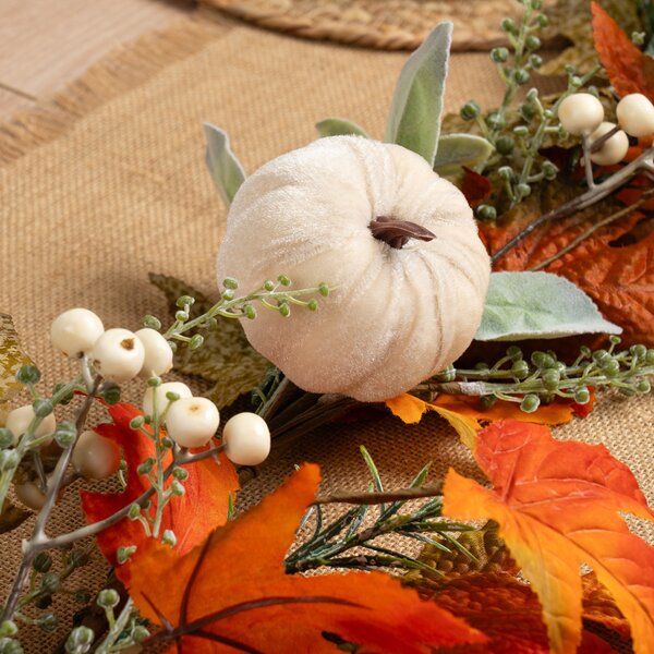
[[[424,157],[429,166],[440,134],[452,24],[438,23],[411,55],[395,89],[385,140]]]

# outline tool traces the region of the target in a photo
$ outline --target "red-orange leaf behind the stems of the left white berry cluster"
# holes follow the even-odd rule
[[[147,458],[155,457],[155,444],[138,429],[132,429],[130,422],[141,412],[131,404],[116,404],[109,407],[113,423],[100,424],[96,432],[111,438],[123,450],[128,464],[128,487],[123,493],[89,493],[81,492],[82,509],[88,522],[105,520],[123,507],[132,504],[150,487],[146,477],[136,471],[138,465]],[[168,452],[165,465],[171,461],[172,455]],[[177,537],[175,550],[186,553],[199,543],[207,534],[225,524],[227,521],[228,497],[235,493],[239,480],[229,459],[220,457],[220,464],[213,459],[205,459],[184,467],[189,477],[184,482],[185,493],[174,497],[164,510],[161,533],[170,529]],[[172,480],[168,480],[168,484]],[[156,497],[153,498],[153,507]],[[123,519],[113,526],[100,532],[97,536],[98,546],[109,561],[116,565],[116,550],[120,546],[136,545],[141,547],[147,541],[143,525],[137,521]],[[126,568],[117,568],[121,580]]]

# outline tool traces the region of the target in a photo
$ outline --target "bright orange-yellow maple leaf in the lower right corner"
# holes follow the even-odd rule
[[[494,423],[477,436],[475,458],[494,485],[450,469],[444,516],[491,518],[543,606],[550,647],[581,641],[582,583],[590,565],[629,621],[634,651],[654,642],[654,548],[632,534],[619,511],[654,519],[630,470],[602,445],[559,443],[549,429]]]

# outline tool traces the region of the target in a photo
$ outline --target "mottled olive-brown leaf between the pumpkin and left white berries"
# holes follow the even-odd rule
[[[175,301],[181,295],[195,298],[191,318],[205,313],[215,304],[214,300],[174,277],[150,272],[149,279],[166,294],[171,316],[179,311]],[[258,386],[270,363],[247,342],[239,319],[218,317],[217,320],[217,329],[201,330],[204,336],[202,348],[190,350],[185,343],[178,342],[174,370],[214,382],[209,398],[222,409],[241,393]]]

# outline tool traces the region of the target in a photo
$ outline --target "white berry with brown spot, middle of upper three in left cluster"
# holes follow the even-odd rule
[[[107,329],[90,351],[96,371],[110,382],[133,379],[143,367],[145,349],[133,331]]]

